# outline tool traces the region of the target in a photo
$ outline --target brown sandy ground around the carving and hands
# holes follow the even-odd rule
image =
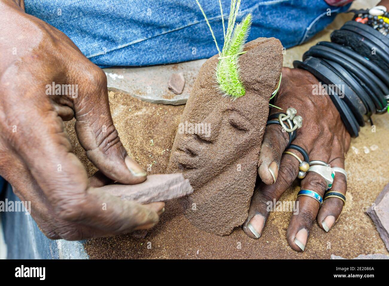
[[[350,16],[336,18],[326,31],[309,43],[286,51],[284,65],[321,40]],[[120,93],[109,93],[111,112],[121,140],[130,155],[149,174],[165,171],[175,128],[184,106],[154,105],[140,102]],[[304,253],[293,251],[286,240],[291,212],[270,214],[263,235],[258,240],[247,237],[241,228],[231,235],[219,237],[196,229],[182,215],[179,204],[166,202],[160,223],[145,239],[129,235],[91,239],[85,243],[90,258],[329,258],[331,254],[354,258],[359,254],[388,254],[384,243],[365,211],[378,193],[389,183],[387,153],[389,114],[374,116],[375,130],[367,124],[359,137],[352,139],[345,169],[349,174],[347,204],[340,219],[329,233],[314,224]],[[74,132],[74,121],[67,123],[74,152],[89,174],[95,167],[88,161]],[[375,131],[375,132],[373,132]],[[284,193],[280,200],[294,200],[298,186]]]

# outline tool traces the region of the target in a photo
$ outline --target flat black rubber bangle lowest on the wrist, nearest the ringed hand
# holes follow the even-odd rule
[[[307,70],[308,72],[313,74],[319,81],[322,81],[326,84],[333,84],[331,82],[331,78],[337,77],[337,75],[335,75],[332,71],[324,67],[324,65],[322,65],[320,63],[320,60],[317,58],[311,57],[305,60],[304,62],[294,61],[293,66],[295,68]],[[347,131],[352,137],[357,137],[359,125],[355,124],[355,119],[353,119],[354,116],[352,115],[347,105],[345,105],[344,102],[337,95],[330,95],[329,97],[331,98],[336,109],[338,109],[340,117],[342,118],[342,121],[346,126]]]

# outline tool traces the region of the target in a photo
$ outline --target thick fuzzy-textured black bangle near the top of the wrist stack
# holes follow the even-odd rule
[[[352,48],[356,53],[368,58],[389,74],[389,59],[385,57],[384,51],[380,47],[374,46],[370,40],[348,30],[335,30],[330,37],[331,42]],[[371,54],[373,48],[375,48],[374,56]]]

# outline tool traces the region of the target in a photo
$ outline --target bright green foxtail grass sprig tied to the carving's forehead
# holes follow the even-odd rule
[[[241,23],[235,25],[240,1],[241,0],[231,0],[230,16],[228,18],[226,30],[224,26],[221,0],[219,0],[224,33],[224,44],[222,50],[220,51],[208,18],[205,15],[205,12],[203,11],[200,3],[198,0],[196,0],[215,41],[216,49],[219,52],[219,62],[217,63],[216,67],[216,80],[218,83],[218,88],[223,96],[231,97],[233,99],[242,97],[246,93],[244,85],[240,80],[238,56],[245,53],[243,52],[243,46],[247,40],[247,36],[249,35],[252,19],[252,15],[247,14]]]

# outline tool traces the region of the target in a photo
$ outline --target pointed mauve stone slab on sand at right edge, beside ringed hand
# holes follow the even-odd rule
[[[389,184],[385,186],[366,213],[375,224],[381,239],[389,250]]]

